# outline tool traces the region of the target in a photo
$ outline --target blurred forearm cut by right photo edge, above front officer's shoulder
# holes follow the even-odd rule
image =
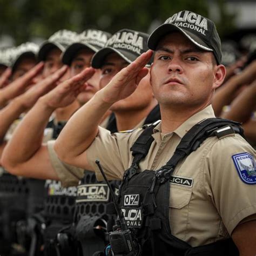
[[[247,122],[255,110],[256,82],[248,86],[231,104],[230,111],[223,114],[224,118],[237,122]]]

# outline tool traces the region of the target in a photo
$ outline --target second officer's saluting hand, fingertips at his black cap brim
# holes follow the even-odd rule
[[[85,82],[90,79],[94,73],[95,69],[93,68],[85,69],[78,75],[58,84],[55,89],[41,98],[42,101],[52,109],[68,106],[76,99],[80,92],[85,90]]]

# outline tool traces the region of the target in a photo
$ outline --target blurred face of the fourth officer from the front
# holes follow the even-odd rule
[[[60,60],[61,54],[62,51],[60,51],[58,48],[54,48],[48,53],[44,62],[43,78],[50,76],[52,73],[62,67],[63,64]]]

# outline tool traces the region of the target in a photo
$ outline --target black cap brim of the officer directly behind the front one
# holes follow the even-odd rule
[[[138,56],[136,56],[130,52],[127,52],[127,51],[117,50],[112,47],[106,47],[106,48],[99,50],[92,57],[92,68],[95,68],[95,69],[102,68],[106,56],[109,55],[110,53],[114,53],[114,52],[117,53],[121,58],[123,58],[129,64],[132,63],[134,60],[136,60],[138,57]]]

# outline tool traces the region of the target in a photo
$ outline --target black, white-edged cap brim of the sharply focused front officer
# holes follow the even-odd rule
[[[156,50],[159,40],[170,32],[179,31],[182,32],[193,44],[204,51],[213,51],[209,46],[201,40],[197,35],[194,35],[186,29],[181,29],[178,26],[170,23],[163,24],[154,30],[149,39],[147,40],[147,46],[151,50]]]

